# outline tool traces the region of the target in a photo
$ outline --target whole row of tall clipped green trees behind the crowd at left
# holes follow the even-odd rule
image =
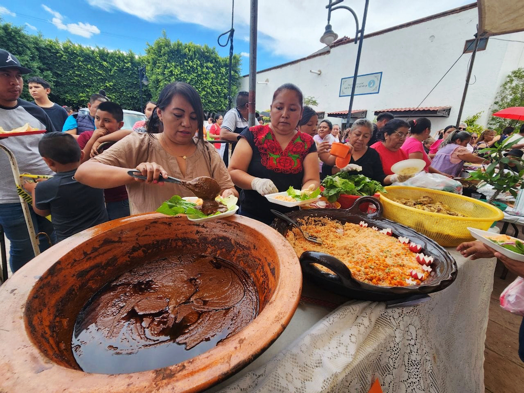
[[[143,85],[144,103],[157,97],[166,84],[184,81],[202,97],[205,111],[227,107],[229,59],[220,57],[214,48],[194,43],[171,42],[165,34],[147,46],[145,56],[134,52],[110,51],[60,42],[31,35],[23,27],[1,23],[0,47],[13,53],[21,64],[33,70],[27,80],[39,76],[51,86],[50,99],[59,105],[85,107],[89,96],[104,89],[107,96],[129,110],[140,110],[138,69],[146,65],[151,84]],[[240,57],[233,58],[232,96],[240,80]],[[32,101],[27,86],[23,99]]]

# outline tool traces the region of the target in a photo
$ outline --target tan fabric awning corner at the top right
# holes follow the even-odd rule
[[[522,0],[478,0],[479,37],[524,30]]]

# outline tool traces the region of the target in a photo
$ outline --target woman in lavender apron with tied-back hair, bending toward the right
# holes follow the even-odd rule
[[[456,177],[462,172],[464,161],[473,163],[488,162],[484,158],[478,157],[467,150],[466,146],[470,140],[470,133],[455,130],[444,139],[435,158],[431,161],[431,166],[443,173]]]

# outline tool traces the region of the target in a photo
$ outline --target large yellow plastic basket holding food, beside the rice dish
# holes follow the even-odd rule
[[[451,192],[400,185],[386,187],[386,191],[387,194],[380,195],[380,202],[384,205],[387,219],[407,225],[444,247],[473,240],[468,227],[487,231],[495,221],[504,218],[504,213],[493,205]],[[430,196],[434,202],[445,203],[451,210],[466,217],[427,212],[391,200],[419,196]]]

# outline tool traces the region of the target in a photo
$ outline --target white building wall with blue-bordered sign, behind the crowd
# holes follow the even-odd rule
[[[369,15],[373,17],[373,15]],[[478,23],[476,8],[399,28],[364,39],[358,74],[383,72],[378,94],[355,96],[353,109],[374,112],[385,108],[416,107],[461,55],[465,41],[473,39]],[[336,31],[336,26],[333,26]],[[494,38],[524,41],[524,32]],[[350,97],[339,97],[342,78],[354,72],[358,45],[346,43],[311,59],[257,74],[256,107],[269,108],[273,92],[283,83],[299,86],[304,96],[314,96],[317,111],[347,111]],[[487,123],[489,107],[507,74],[524,66],[524,43],[490,38],[487,49],[478,51],[462,118],[483,111]],[[455,124],[471,53],[465,53],[420,106],[451,106],[450,117],[431,117],[434,130]],[[309,72],[321,70],[321,75]],[[474,75],[474,76],[473,76]],[[475,82],[476,79],[476,82]],[[248,90],[248,78],[242,79]],[[340,118],[334,118],[340,124]]]

